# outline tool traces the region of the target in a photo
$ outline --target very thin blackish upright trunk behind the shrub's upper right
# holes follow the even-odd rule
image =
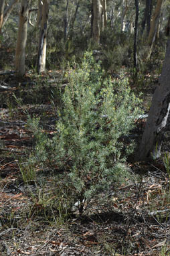
[[[139,19],[139,2],[135,0],[136,17],[135,17],[135,34],[134,34],[134,45],[133,45],[133,61],[135,69],[135,80],[137,78],[137,38],[138,38],[138,19]]]

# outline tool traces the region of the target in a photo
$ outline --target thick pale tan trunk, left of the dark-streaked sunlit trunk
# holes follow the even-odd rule
[[[19,12],[19,28],[17,34],[17,46],[15,51],[15,71],[23,76],[25,74],[25,47],[27,42],[27,21],[29,11],[29,1],[21,1]]]

